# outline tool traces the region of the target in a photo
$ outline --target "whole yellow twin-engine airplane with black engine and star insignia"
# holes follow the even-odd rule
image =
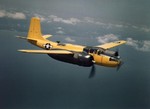
[[[18,36],[18,38],[26,39],[31,44],[42,49],[23,49],[18,51],[24,53],[48,54],[53,59],[59,61],[84,67],[92,67],[89,77],[93,77],[95,75],[94,64],[106,67],[117,67],[117,69],[119,69],[123,63],[118,51],[110,51],[109,49],[125,44],[126,41],[124,40],[110,42],[99,46],[82,46],[61,43],[60,41],[53,42],[47,39],[51,36],[52,35],[42,35],[40,19],[33,17],[30,21],[27,38],[21,36]]]

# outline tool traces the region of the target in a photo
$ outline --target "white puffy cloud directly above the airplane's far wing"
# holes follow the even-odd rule
[[[101,44],[119,40],[118,37],[116,35],[114,35],[114,34],[107,34],[107,35],[104,35],[104,36],[99,36],[96,39]]]

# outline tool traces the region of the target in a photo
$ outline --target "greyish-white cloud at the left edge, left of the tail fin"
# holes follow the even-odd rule
[[[7,17],[12,19],[26,19],[26,15],[22,12],[8,12],[6,10],[0,10],[0,17]]]

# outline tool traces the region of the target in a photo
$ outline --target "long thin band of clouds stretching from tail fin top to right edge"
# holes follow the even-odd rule
[[[4,12],[0,12],[0,17],[5,16]],[[112,28],[133,28],[136,29],[138,31],[144,31],[144,32],[150,32],[150,28],[148,27],[143,27],[143,26],[135,26],[129,23],[104,23],[101,22],[99,20],[96,20],[94,18],[91,17],[84,17],[82,19],[78,19],[78,18],[62,18],[62,17],[58,17],[56,15],[49,15],[49,16],[42,16],[40,14],[34,14],[35,17],[39,17],[41,19],[41,21],[46,21],[48,23],[51,22],[56,22],[56,23],[64,23],[64,24],[68,24],[68,25],[76,25],[76,24],[80,24],[80,23],[86,23],[86,24],[93,24],[93,25],[99,25],[104,29],[112,29]]]

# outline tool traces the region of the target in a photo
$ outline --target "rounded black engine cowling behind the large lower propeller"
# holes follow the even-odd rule
[[[92,66],[93,65],[93,56],[87,54],[87,53],[75,53],[74,56],[74,61],[77,62],[78,65],[80,66]]]

